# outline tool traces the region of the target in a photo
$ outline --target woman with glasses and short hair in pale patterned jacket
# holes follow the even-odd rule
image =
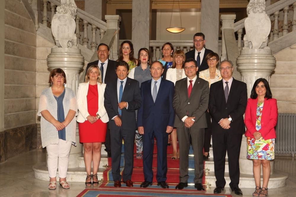
[[[209,86],[211,86],[212,83],[215,83],[217,81],[220,81],[222,79],[219,69],[217,67],[219,66],[219,55],[211,52],[207,54],[205,57],[205,60],[207,61],[207,65],[209,66],[208,69],[200,71],[199,77],[208,81]],[[205,129],[205,137],[204,137],[204,160],[207,160],[210,156],[210,143],[211,143],[211,115],[208,111],[205,112],[206,118],[207,118],[207,128]]]

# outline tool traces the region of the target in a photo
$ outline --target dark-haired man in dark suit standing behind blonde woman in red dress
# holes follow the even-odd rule
[[[102,82],[108,83],[110,81],[114,81],[117,79],[116,73],[115,73],[115,67],[118,62],[115,62],[111,59],[108,59],[109,57],[109,46],[104,43],[100,43],[97,50],[98,58],[99,60],[96,60],[94,62],[88,63],[86,66],[87,69],[92,65],[98,65],[98,67],[101,70],[102,75]],[[107,124],[107,132],[106,132],[106,138],[105,138],[105,151],[108,154],[108,157],[111,157],[111,143],[110,143],[110,130],[109,130],[109,123]]]

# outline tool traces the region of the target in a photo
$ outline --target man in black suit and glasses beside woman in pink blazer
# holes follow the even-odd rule
[[[239,189],[239,152],[245,132],[243,114],[247,106],[247,84],[232,77],[231,61],[222,61],[219,68],[222,80],[211,85],[209,100],[216,177],[214,193],[221,193],[226,184],[224,172],[227,151],[230,188],[235,194],[242,195]]]

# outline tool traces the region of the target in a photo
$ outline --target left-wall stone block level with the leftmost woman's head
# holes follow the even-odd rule
[[[16,70],[5,70],[4,84],[36,85],[36,73]]]

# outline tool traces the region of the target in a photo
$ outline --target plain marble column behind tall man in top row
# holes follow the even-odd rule
[[[201,0],[200,31],[205,34],[205,47],[218,53],[219,1]]]

